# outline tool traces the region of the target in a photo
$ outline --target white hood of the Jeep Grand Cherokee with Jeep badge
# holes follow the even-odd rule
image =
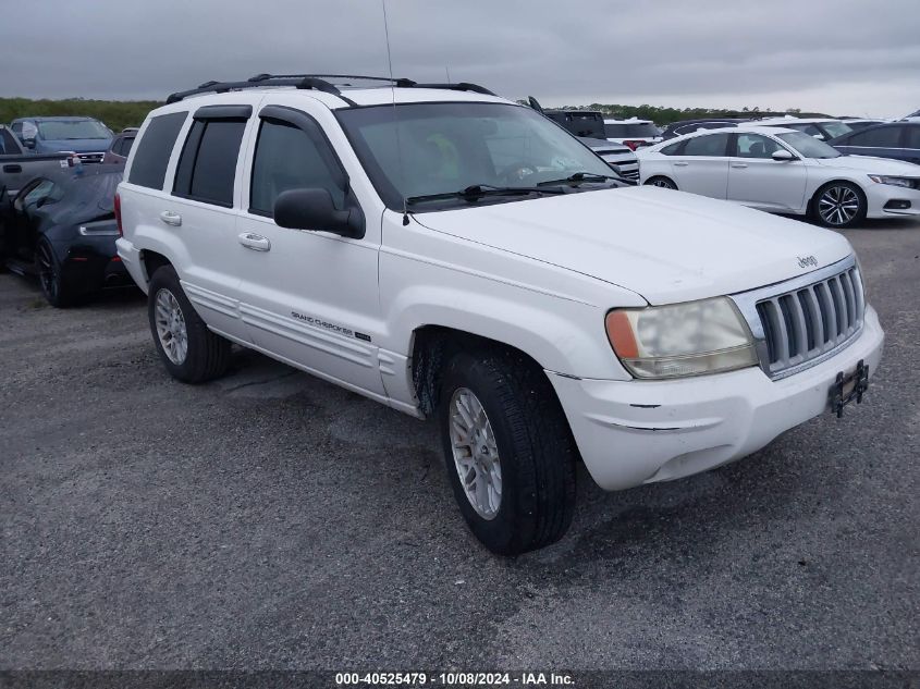
[[[689,302],[846,258],[839,234],[702,196],[640,186],[419,213],[431,230],[642,295]],[[811,260],[799,259],[814,257]]]

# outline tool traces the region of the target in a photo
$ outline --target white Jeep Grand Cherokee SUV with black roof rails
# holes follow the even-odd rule
[[[237,343],[433,418],[468,525],[515,554],[566,531],[579,457],[608,490],[711,469],[881,358],[843,236],[609,172],[475,85],[210,83],[140,128],[119,255],[173,377]]]

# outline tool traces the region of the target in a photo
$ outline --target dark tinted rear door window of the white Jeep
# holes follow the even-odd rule
[[[218,206],[233,206],[236,158],[245,128],[245,120],[196,120],[179,159],[173,193]]]

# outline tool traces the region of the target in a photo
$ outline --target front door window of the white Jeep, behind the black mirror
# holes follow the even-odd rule
[[[279,194],[310,187],[328,189],[335,207],[343,208],[345,192],[334,181],[341,172],[333,172],[330,158],[331,152],[320,152],[303,130],[263,121],[253,161],[249,210],[271,216]]]

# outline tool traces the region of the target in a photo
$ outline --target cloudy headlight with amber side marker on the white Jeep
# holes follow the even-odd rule
[[[606,334],[636,378],[676,378],[757,365],[753,337],[727,297],[606,315]]]

